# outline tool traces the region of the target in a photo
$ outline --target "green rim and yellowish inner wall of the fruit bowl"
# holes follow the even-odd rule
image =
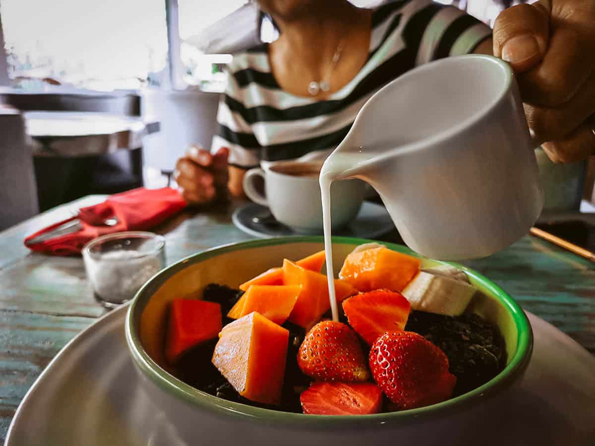
[[[333,237],[334,270],[353,247],[372,240]],[[383,243],[398,252],[416,255],[405,246]],[[284,257],[299,259],[324,249],[321,237],[283,237],[247,241],[215,247],[186,257],[163,269],[151,278],[136,294],[126,318],[126,339],[134,363],[143,378],[148,378],[160,391],[174,399],[214,416],[227,416],[230,420],[246,419],[250,422],[289,424],[317,428],[340,428],[363,425],[409,425],[414,420],[442,417],[486,401],[522,376],[533,349],[531,325],[521,307],[502,288],[486,277],[452,262],[439,262],[422,258],[422,266],[449,263],[463,269],[472,284],[481,293],[476,294],[470,306],[490,322],[496,323],[505,338],[508,364],[491,381],[466,394],[439,404],[401,412],[361,416],[312,416],[261,409],[223,400],[199,391],[170,373],[160,350],[164,339],[165,312],[174,298],[199,297],[209,282],[237,287],[243,281],[265,269],[281,265]]]

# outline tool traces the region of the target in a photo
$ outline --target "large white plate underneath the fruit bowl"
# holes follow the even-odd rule
[[[124,339],[126,310],[99,319],[49,363],[18,407],[5,446],[185,445],[139,386]],[[594,444],[595,357],[549,323],[529,318],[536,341],[524,381],[494,403],[453,417],[450,439],[440,434],[437,444],[463,445],[457,440],[469,429],[482,445]],[[435,427],[437,435],[444,430]],[[200,419],[196,430],[199,439]]]

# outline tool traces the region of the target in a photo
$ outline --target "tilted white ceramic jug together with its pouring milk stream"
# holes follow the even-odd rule
[[[378,90],[320,172],[333,320],[333,181],[371,184],[415,252],[484,257],[527,234],[541,212],[537,146],[512,69],[492,56],[440,59]]]

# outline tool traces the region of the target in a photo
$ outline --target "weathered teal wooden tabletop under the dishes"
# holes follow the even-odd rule
[[[99,202],[90,196],[0,233],[0,442],[27,389],[74,335],[105,310],[93,299],[79,257],[30,253],[23,238]],[[251,237],[231,224],[233,204],[184,211],[156,228],[167,239],[168,263]],[[383,240],[399,242],[396,231]],[[595,265],[546,241],[524,237],[486,259],[467,262],[493,279],[524,309],[556,325],[595,354]]]

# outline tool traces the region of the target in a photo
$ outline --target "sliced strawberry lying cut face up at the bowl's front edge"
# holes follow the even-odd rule
[[[300,395],[303,413],[365,415],[382,409],[382,391],[371,382],[315,382]]]

